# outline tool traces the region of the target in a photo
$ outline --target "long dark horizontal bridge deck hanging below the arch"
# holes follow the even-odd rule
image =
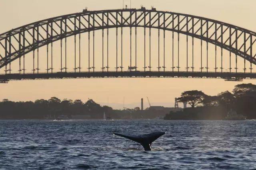
[[[165,77],[165,78],[223,78],[226,80],[256,79],[256,73],[243,72],[168,72],[168,71],[109,71],[109,72],[54,72],[54,73],[26,73],[0,74],[0,80],[35,80],[62,78],[128,78],[128,77]]]

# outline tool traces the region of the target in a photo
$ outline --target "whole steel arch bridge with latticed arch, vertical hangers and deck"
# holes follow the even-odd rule
[[[130,63],[128,71],[123,70],[123,59],[118,56],[118,28],[130,27]],[[135,27],[135,66],[132,65],[132,27]],[[144,70],[138,71],[137,68],[137,27],[144,28]],[[115,71],[109,70],[108,53],[104,56],[104,30],[116,28],[116,65]],[[146,66],[146,28],[149,29],[149,66]],[[151,68],[151,29],[158,29],[158,71],[152,71]],[[164,34],[164,66],[160,66],[160,31]],[[96,71],[94,65],[94,31],[102,30],[102,71]],[[165,31],[172,31],[172,68],[166,69],[165,65]],[[88,32],[88,71],[81,72],[80,65],[80,34]],[[90,61],[90,32],[93,32],[93,61]],[[178,35],[178,65],[174,66],[174,32]],[[180,71],[179,63],[179,43],[180,34],[186,35],[186,70]],[[76,65],[76,35],[79,35],[79,64]],[[66,39],[74,36],[75,55],[74,55],[74,72],[67,72],[66,66]],[[188,37],[192,37],[192,66],[188,66]],[[201,61],[194,61],[194,38],[201,41]],[[60,72],[53,72],[52,53],[48,55],[49,45],[52,51],[52,43],[60,40]],[[62,41],[65,41],[65,54],[62,55]],[[202,41],[206,46],[206,66],[202,64]],[[242,27],[216,21],[208,18],[180,14],[175,12],[157,11],[155,8],[147,10],[141,9],[119,9],[119,10],[100,10],[68,14],[37,21],[12,29],[0,34],[0,68],[5,67],[5,74],[0,74],[2,82],[8,80],[22,79],[40,79],[40,78],[76,78],[76,77],[198,77],[198,78],[225,78],[227,80],[241,80],[242,78],[256,78],[256,73],[252,72],[252,65],[256,65],[256,33]],[[121,45],[123,39],[121,40]],[[215,45],[215,72],[208,71],[208,43]],[[38,52],[40,47],[47,47],[47,66],[46,72],[41,73],[38,65],[35,65],[35,51]],[[217,47],[221,49],[221,65],[217,67]],[[108,45],[107,45],[108,48]],[[230,66],[228,72],[223,72],[223,49],[230,53]],[[122,50],[122,49],[121,49]],[[32,73],[26,73],[25,55],[33,53]],[[231,53],[235,55],[235,68],[231,68]],[[104,57],[107,62],[104,63]],[[244,60],[244,72],[237,71],[237,58],[242,57]],[[12,73],[11,63],[19,60],[18,73]],[[23,61],[23,63],[22,63]],[[119,63],[121,66],[119,66]],[[199,62],[200,71],[194,70],[194,62]],[[246,72],[246,62],[250,63],[250,71]],[[64,64],[63,64],[64,63]],[[106,64],[107,66],[104,66]],[[126,63],[128,64],[128,63]],[[160,70],[163,68],[163,71]],[[189,70],[191,68],[192,70]],[[206,71],[203,71],[203,68]],[[119,70],[118,70],[119,69]]]

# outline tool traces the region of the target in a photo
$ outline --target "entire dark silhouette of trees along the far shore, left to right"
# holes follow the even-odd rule
[[[192,108],[175,112],[175,117],[168,116],[172,119],[223,119],[232,109],[248,119],[256,119],[256,85],[238,84],[232,92],[221,92],[218,96],[208,96],[198,90],[183,92],[178,102],[187,102]],[[53,119],[59,115],[70,118],[72,115],[82,115],[88,119],[102,119],[104,112],[106,117],[114,119],[153,119],[162,114],[154,109],[141,111],[139,107],[115,110],[109,106],[100,106],[92,99],[85,103],[82,100],[60,100],[56,97],[34,102],[12,102],[8,99],[0,102],[0,119]]]

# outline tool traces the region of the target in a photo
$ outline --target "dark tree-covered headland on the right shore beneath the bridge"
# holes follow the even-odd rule
[[[179,114],[194,117],[194,119],[223,119],[230,110],[234,110],[248,119],[256,118],[256,85],[251,83],[238,84],[232,92],[221,92],[217,96],[209,96],[198,90],[185,91],[180,98],[177,98],[177,101],[186,102],[191,106]],[[167,119],[172,114],[166,115]],[[178,113],[176,117],[177,115]]]

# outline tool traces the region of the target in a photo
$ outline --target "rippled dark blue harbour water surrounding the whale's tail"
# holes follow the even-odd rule
[[[112,132],[166,131],[152,151]],[[254,169],[256,121],[0,121],[0,169]]]

